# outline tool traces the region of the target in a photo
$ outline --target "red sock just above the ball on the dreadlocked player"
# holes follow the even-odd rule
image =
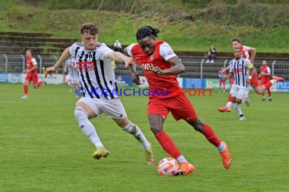
[[[157,138],[165,152],[167,152],[171,157],[177,159],[180,155],[182,155],[174,146],[171,138],[164,131],[156,134],[155,137]]]

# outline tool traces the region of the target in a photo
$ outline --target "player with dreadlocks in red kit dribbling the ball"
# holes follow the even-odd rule
[[[176,75],[184,73],[185,66],[168,43],[155,40],[159,32],[158,28],[151,26],[139,28],[136,32],[138,43],[133,43],[124,50],[125,55],[136,59],[148,80],[150,87],[148,117],[151,130],[164,151],[180,163],[175,175],[190,174],[195,167],[178,151],[172,139],[163,130],[163,123],[169,112],[175,120],[184,119],[196,131],[201,132],[212,145],[218,148],[224,167],[230,168],[231,157],[226,143],[221,142],[211,127],[197,117],[186,95],[179,91]],[[133,81],[140,84],[137,72],[131,66],[129,70]],[[173,87],[177,88],[177,94],[172,94],[175,93],[171,89]]]

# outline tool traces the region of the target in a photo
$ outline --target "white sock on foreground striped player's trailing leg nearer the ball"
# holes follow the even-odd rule
[[[141,132],[140,128],[133,124],[132,122],[129,122],[129,124],[126,127],[122,128],[124,131],[132,134],[134,138],[136,138],[142,145],[144,151],[148,151],[150,149],[150,143],[148,142],[147,138],[144,136],[144,134]]]

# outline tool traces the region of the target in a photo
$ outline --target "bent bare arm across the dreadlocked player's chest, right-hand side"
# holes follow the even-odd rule
[[[160,69],[159,67],[154,67],[152,70],[153,73],[156,75],[178,75],[185,73],[185,66],[182,62],[179,61],[177,56],[168,59],[167,62],[173,65],[173,67],[164,70]]]

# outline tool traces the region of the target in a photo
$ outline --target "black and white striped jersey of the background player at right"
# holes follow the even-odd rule
[[[230,72],[234,73],[233,84],[243,87],[249,86],[249,84],[246,83],[247,77],[249,76],[249,65],[250,61],[245,58],[240,58],[239,60],[233,59],[230,61]]]

